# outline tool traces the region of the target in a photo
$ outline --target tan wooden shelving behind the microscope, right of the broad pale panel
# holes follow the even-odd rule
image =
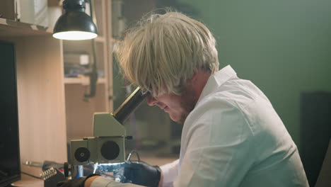
[[[95,44],[95,57],[98,68],[98,81],[96,96],[84,98],[86,90],[89,90],[88,77],[64,78],[64,91],[66,101],[66,135],[68,140],[93,136],[93,113],[110,112],[112,106],[109,100],[111,77],[108,69],[112,63],[108,57],[111,50],[107,43],[108,23],[107,7],[111,6],[109,0],[94,0],[95,18],[98,27],[98,37],[94,40],[63,41],[64,54],[83,52],[93,59],[93,42]],[[64,62],[66,63],[66,62]]]

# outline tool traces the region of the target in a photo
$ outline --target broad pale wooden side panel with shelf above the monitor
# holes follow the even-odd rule
[[[62,41],[38,26],[0,21],[0,40],[16,47],[21,163],[65,162]]]

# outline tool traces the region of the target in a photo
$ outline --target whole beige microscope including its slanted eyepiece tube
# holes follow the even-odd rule
[[[118,169],[125,162],[125,139],[122,123],[140,105],[147,94],[138,87],[114,113],[94,113],[93,137],[70,141],[71,177],[81,177],[83,166],[107,166],[108,171]],[[66,169],[65,169],[66,170]]]

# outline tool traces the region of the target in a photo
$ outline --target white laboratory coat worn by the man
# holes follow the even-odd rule
[[[272,104],[230,66],[207,81],[185,120],[180,159],[161,170],[163,187],[308,186],[298,149]]]

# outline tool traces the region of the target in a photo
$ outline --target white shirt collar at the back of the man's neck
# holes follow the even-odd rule
[[[202,100],[202,98],[204,98],[209,93],[211,93],[212,91],[217,89],[223,83],[228,81],[228,79],[231,79],[231,77],[236,77],[236,76],[237,76],[237,73],[232,69],[232,67],[230,65],[227,65],[226,67],[223,67],[215,74],[212,74],[209,77],[207,84],[204,86],[204,89],[202,90],[202,93],[201,93],[197,103],[199,103],[199,101]]]

